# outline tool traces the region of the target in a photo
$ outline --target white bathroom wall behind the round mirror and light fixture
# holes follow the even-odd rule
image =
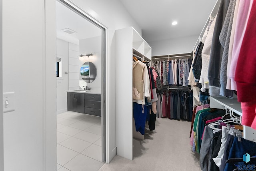
[[[80,88],[83,88],[84,85],[88,85],[92,92],[101,93],[101,36],[80,40],[79,51],[79,54],[93,54],[89,59],[88,57],[84,57],[84,60],[80,61],[80,66],[82,66],[84,62],[92,62],[97,69],[96,79],[92,83],[84,82],[81,75],[79,75]]]

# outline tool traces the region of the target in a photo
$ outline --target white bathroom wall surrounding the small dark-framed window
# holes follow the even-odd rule
[[[56,77],[57,86],[57,114],[67,111],[68,91],[68,42],[57,39],[57,57],[61,58],[61,77]]]

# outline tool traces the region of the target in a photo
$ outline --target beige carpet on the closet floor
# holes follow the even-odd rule
[[[99,171],[200,171],[199,155],[189,144],[190,125],[156,118],[156,130],[146,130],[144,140],[133,139],[132,161],[115,156]]]

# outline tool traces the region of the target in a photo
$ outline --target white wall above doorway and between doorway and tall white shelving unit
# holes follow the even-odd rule
[[[106,161],[108,163],[116,155],[115,30],[133,26],[141,34],[141,28],[118,0],[72,0],[72,2],[108,28],[108,58],[106,59],[106,130],[109,132],[106,151],[110,155],[110,160]]]

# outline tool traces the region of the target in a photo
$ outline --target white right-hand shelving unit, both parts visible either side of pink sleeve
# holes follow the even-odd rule
[[[228,99],[226,97],[210,97],[210,107],[224,109],[227,107],[238,115],[242,116],[241,103],[237,98]],[[244,126],[244,139],[256,142],[256,130],[251,127]]]

